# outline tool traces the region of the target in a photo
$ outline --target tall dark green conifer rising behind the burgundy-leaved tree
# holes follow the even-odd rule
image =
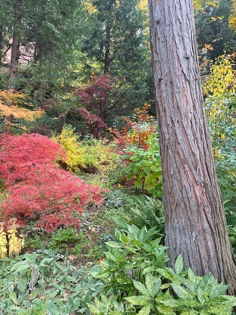
[[[118,111],[123,115],[148,101],[151,62],[148,51],[148,17],[140,0],[91,0],[88,35],[83,51],[100,64],[100,71],[123,77]],[[122,115],[122,114],[121,114]]]

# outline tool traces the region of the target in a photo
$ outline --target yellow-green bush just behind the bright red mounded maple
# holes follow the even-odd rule
[[[61,133],[54,138],[66,152],[66,166],[71,172],[85,171],[102,174],[116,169],[118,155],[113,143],[89,137],[80,140],[71,126],[64,126]]]

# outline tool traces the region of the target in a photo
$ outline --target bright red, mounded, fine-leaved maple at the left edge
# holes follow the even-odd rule
[[[56,160],[65,155],[48,137],[1,136],[0,146],[0,173],[9,192],[0,204],[6,221],[16,217],[23,224],[33,218],[47,231],[78,226],[84,207],[101,201],[101,189],[59,168]]]

